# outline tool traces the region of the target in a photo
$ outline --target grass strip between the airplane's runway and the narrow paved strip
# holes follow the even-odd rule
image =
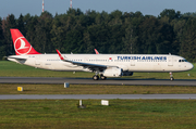
[[[17,91],[23,87],[24,91]],[[181,86],[103,86],[103,85],[11,85],[0,83],[0,94],[152,94],[196,93],[196,87]]]

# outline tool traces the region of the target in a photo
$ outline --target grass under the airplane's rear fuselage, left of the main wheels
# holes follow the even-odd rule
[[[1,77],[93,77],[93,73],[53,72],[9,61],[0,61]]]

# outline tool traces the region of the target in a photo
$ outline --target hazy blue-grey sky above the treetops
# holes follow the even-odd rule
[[[120,10],[122,12],[140,11],[144,15],[158,16],[164,9],[174,9],[181,13],[196,12],[196,0],[72,0],[74,9],[95,10],[108,13]],[[70,0],[45,0],[45,10],[52,15],[66,13]],[[0,0],[0,17],[22,13],[26,15],[40,15],[42,0]]]

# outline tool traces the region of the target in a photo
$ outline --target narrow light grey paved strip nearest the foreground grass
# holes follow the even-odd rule
[[[128,100],[168,100],[168,99],[184,99],[195,100],[196,94],[2,94],[0,100],[60,100],[60,99],[72,99],[72,100],[87,100],[87,99],[128,99]]]

